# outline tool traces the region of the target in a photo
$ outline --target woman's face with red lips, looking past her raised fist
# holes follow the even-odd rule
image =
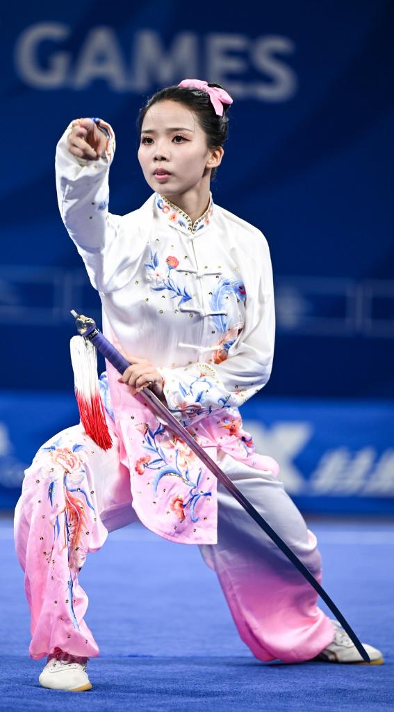
[[[185,105],[164,100],[145,114],[138,159],[154,191],[170,197],[198,187],[222,154],[208,149],[205,132]]]

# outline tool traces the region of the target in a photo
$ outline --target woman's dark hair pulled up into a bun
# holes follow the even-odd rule
[[[209,84],[209,87],[218,87],[223,89],[220,84]],[[211,99],[208,93],[194,87],[179,87],[177,85],[166,87],[156,91],[147,100],[147,103],[139,110],[137,117],[137,129],[141,134],[142,123],[144,121],[147,110],[159,101],[178,101],[180,104],[187,106],[194,114],[196,114],[199,125],[206,135],[208,148],[213,150],[218,146],[223,146],[228,137],[228,116],[226,112],[230,104],[223,104],[223,116],[218,116],[215,113]],[[215,177],[216,168],[212,169],[211,179]]]

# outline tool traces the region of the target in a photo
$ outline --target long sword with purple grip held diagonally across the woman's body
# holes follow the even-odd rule
[[[105,338],[104,334],[97,327],[95,321],[90,317],[86,317],[83,314],[78,314],[74,309],[71,310],[71,314],[75,318],[75,325],[77,327],[78,333],[85,339],[90,340],[92,344],[97,348],[97,351],[112,363],[117,371],[123,375],[124,371],[130,365],[124,356],[112,346],[112,344]],[[275,532],[274,529],[268,524],[262,515],[257,512],[257,509],[252,505],[252,503],[243,495],[243,493],[238,489],[238,487],[230,480],[230,478],[220,469],[220,467],[215,463],[213,459],[206,453],[206,451],[199,445],[196,440],[191,436],[191,434],[186,430],[186,428],[179,423],[179,421],[174,417],[174,415],[169,411],[169,409],[161,402],[161,400],[149,390],[149,388],[144,387],[140,391],[151,404],[152,410],[156,415],[161,417],[161,419],[166,422],[166,424],[173,430],[179,437],[185,441],[189,447],[193,450],[198,458],[203,462],[203,464],[210,470],[218,481],[223,484],[223,486],[233,495],[233,497],[238,501],[240,506],[242,506],[245,511],[252,517],[253,520],[262,528],[262,530],[270,537],[270,539],[277,545],[277,547],[284,553],[284,555],[292,562],[292,564],[299,570],[299,572],[304,576],[304,578],[309,582],[309,584],[314,588],[314,590],[319,594],[321,600],[329,607],[336,620],[344,628],[348,637],[351,639],[356,649],[360,653],[363,660],[367,663],[371,662],[366,649],[360,642],[356,633],[353,631],[351,626],[348,624],[346,618],[333,600],[329,597],[328,593],[324,588],[316,581],[314,575],[309,571],[309,569],[302,563],[294,551],[289,548],[286,542],[279,537],[279,534]]]

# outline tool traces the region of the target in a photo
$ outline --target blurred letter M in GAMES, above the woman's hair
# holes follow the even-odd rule
[[[151,85],[168,86],[197,75],[197,36],[180,32],[165,50],[157,32],[142,30],[134,43],[132,88],[143,92]]]

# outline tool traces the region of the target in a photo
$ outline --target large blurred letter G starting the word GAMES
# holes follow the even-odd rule
[[[18,37],[15,47],[16,69],[26,84],[38,89],[57,89],[63,85],[68,69],[67,52],[58,52],[50,58],[48,67],[37,61],[38,45],[46,40],[64,40],[70,32],[67,25],[58,22],[40,22],[26,28]]]

